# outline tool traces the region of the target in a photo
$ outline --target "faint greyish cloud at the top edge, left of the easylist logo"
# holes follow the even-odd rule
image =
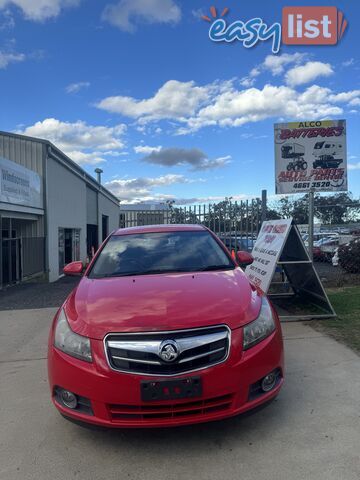
[[[181,10],[173,0],[120,0],[105,7],[102,19],[125,32],[134,32],[138,24],[178,23]]]

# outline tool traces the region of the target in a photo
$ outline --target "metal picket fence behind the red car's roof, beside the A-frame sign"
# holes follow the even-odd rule
[[[202,224],[212,230],[230,250],[251,251],[262,220],[265,203],[259,198],[217,204],[170,206],[166,210],[121,211],[120,227],[153,224]]]

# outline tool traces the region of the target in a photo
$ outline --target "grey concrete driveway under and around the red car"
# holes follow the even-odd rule
[[[50,403],[54,308],[0,311],[0,479],[358,480],[360,359],[284,325],[287,377],[251,416],[162,430],[91,431]]]

